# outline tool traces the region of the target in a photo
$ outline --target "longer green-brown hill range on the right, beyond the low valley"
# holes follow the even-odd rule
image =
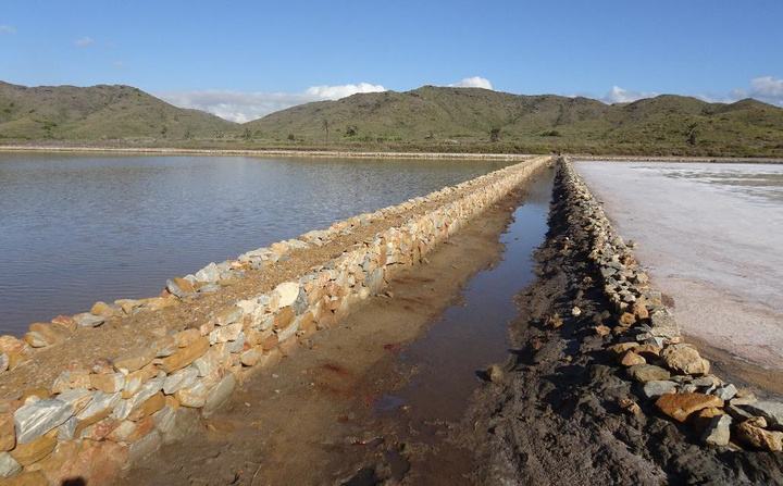
[[[783,155],[783,109],[663,95],[588,98],[425,86],[289,108],[249,122],[266,142],[407,145],[434,150]],[[493,135],[494,133],[494,135]]]

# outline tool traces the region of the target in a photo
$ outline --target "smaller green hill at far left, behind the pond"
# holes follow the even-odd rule
[[[178,140],[214,137],[235,127],[129,86],[27,88],[0,82],[0,139]]]

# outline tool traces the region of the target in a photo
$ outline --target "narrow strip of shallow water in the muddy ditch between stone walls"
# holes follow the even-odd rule
[[[513,298],[534,279],[532,256],[548,229],[552,182],[554,171],[531,182],[524,205],[500,236],[502,260],[470,281],[460,303],[400,353],[399,366],[417,372],[403,389],[376,399],[378,418],[394,420],[405,411],[406,421],[414,423],[458,421],[480,386],[476,372],[506,362],[508,322],[517,315]]]

